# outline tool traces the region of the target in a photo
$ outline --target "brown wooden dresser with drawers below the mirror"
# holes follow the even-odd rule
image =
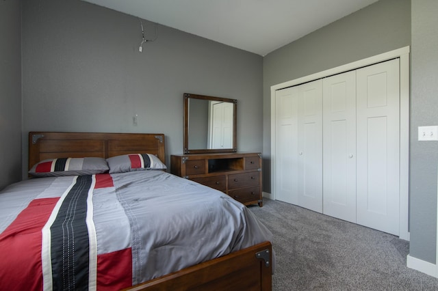
[[[242,204],[263,206],[260,153],[172,155],[170,171],[227,193]]]

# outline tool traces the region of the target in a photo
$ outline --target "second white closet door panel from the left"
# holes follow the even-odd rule
[[[322,80],[298,89],[298,206],[322,212]]]

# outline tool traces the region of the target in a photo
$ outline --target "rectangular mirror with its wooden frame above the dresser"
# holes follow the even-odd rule
[[[237,151],[237,100],[184,93],[184,154]]]

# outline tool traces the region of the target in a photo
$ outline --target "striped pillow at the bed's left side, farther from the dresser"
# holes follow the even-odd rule
[[[81,176],[108,171],[105,158],[51,158],[34,165],[29,174],[36,177]]]

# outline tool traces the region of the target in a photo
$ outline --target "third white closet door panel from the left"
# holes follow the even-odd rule
[[[324,214],[356,223],[356,72],[323,81]]]

